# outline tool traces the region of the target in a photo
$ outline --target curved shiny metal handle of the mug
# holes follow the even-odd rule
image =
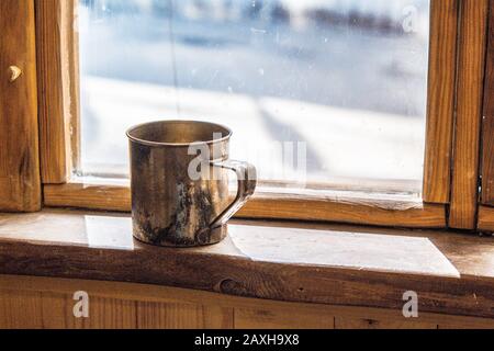
[[[237,174],[238,190],[234,202],[222,212],[210,225],[211,229],[224,226],[249,200],[256,191],[257,170],[256,167],[243,161],[212,161],[212,166],[234,171]]]

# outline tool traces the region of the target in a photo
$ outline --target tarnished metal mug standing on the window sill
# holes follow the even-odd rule
[[[232,131],[204,122],[162,121],[135,126],[127,136],[134,237],[168,247],[223,240],[228,219],[257,184],[254,166],[228,159]],[[233,202],[231,171],[238,179]]]

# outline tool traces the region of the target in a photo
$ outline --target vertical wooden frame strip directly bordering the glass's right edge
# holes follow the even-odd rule
[[[428,203],[447,204],[454,124],[458,0],[433,1],[430,13],[423,197]]]

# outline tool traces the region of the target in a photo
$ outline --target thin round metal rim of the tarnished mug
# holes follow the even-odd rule
[[[204,125],[210,125],[210,126],[216,126],[218,128],[223,128],[227,132],[227,134],[220,138],[220,139],[211,139],[211,140],[201,140],[201,141],[191,141],[191,143],[160,143],[160,141],[150,141],[150,140],[145,140],[145,139],[141,139],[137,138],[135,136],[132,135],[133,132],[137,131],[138,128],[151,125],[151,124],[172,124],[172,123],[189,123],[189,124],[204,124]],[[153,122],[146,122],[146,123],[141,123],[137,125],[134,125],[132,127],[130,127],[126,132],[125,132],[127,138],[131,141],[141,144],[141,145],[147,145],[147,146],[167,146],[167,147],[189,147],[192,144],[205,144],[205,145],[213,145],[216,143],[223,143],[228,140],[232,135],[233,132],[231,128],[228,128],[227,126],[224,126],[222,124],[218,123],[211,123],[211,122],[203,122],[203,121],[194,121],[194,120],[170,120],[170,121],[153,121]]]

